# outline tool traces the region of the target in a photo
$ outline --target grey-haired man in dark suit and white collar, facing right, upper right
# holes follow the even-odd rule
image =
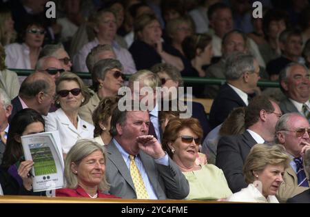
[[[220,88],[220,92],[210,110],[210,124],[212,128],[220,125],[235,107],[245,107],[249,104],[248,95],[253,94],[260,79],[260,67],[254,56],[234,52],[225,65],[227,83]]]

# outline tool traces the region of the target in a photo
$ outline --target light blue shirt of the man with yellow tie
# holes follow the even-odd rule
[[[129,154],[121,147],[121,145],[113,138],[113,142],[116,145],[116,148],[118,149],[119,152],[121,152],[121,155],[123,156],[123,159],[127,165],[127,168],[130,170],[130,158]],[[143,178],[143,182],[145,184],[145,188],[147,190],[147,194],[149,194],[149,199],[158,199],[158,197],[155,194],[154,188],[152,184],[149,181],[149,177],[147,176],[147,172],[145,171],[145,168],[143,167],[143,163],[141,162],[141,158],[139,155],[134,158],[134,161],[136,163],[136,166],[138,167],[138,170]],[[169,165],[169,158],[166,153],[166,155],[163,158],[158,158],[154,160],[156,163],[161,164],[161,165]]]

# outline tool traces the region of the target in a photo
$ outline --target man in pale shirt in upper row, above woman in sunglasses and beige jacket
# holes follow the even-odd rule
[[[132,55],[128,50],[121,48],[114,37],[116,35],[116,17],[111,10],[99,10],[94,15],[94,31],[96,38],[85,44],[83,48],[74,56],[73,67],[76,72],[88,72],[86,67],[86,56],[96,45],[110,44],[112,45],[116,58],[121,61],[125,74],[133,74],[136,72],[136,66]]]

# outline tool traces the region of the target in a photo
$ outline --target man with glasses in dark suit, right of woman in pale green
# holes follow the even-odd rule
[[[216,166],[223,169],[231,192],[247,187],[242,173],[245,158],[257,143],[272,142],[280,107],[266,96],[256,96],[245,111],[245,129],[241,135],[223,136],[218,142]]]

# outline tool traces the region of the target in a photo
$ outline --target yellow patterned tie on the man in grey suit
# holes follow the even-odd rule
[[[143,183],[142,176],[136,167],[136,162],[134,161],[134,156],[130,155],[130,176],[132,176],[132,181],[134,182],[134,188],[136,189],[137,199],[148,199],[149,195]]]

